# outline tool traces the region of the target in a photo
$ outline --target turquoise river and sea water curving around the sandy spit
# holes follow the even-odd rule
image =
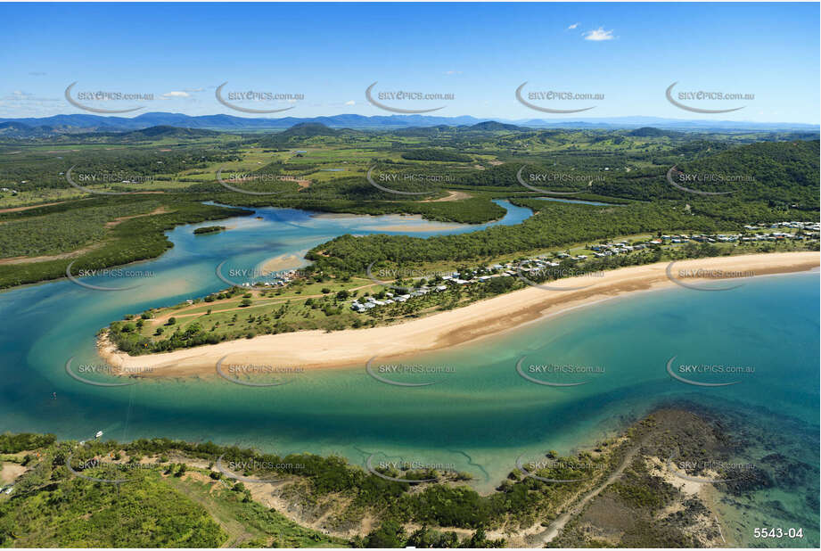
[[[513,210],[514,217],[509,210],[497,224],[519,223],[529,213]],[[223,259],[256,265],[338,234],[375,231],[366,227],[373,218],[316,217],[299,210],[259,209],[221,224],[230,229],[205,238],[192,230],[208,223],[169,232],[175,247],[140,264],[153,276],[135,292],[94,292],[58,281],[0,294],[4,430],[78,440],[101,430],[114,440],[212,440],[283,454],[339,454],[354,465],[376,454],[454,465],[472,475],[473,487],[489,492],[521,454],[586,449],[670,399],[731,407],[751,415],[753,423],[756,408],[774,405],[779,418],[806,426],[817,422],[817,371],[810,361],[817,358],[817,318],[805,307],[818,300],[817,274],[756,278],[743,289],[715,293],[720,297],[677,289],[616,299],[504,337],[419,355],[415,363],[452,368],[427,387],[392,387],[374,380],[365,366],[295,374],[292,382],[268,388],[245,387],[217,374],[103,388],[66,374],[69,358],[75,358],[75,370],[100,364],[94,333],[112,320],[224,289],[215,275]],[[773,325],[773,317],[794,323]],[[670,350],[671,343],[677,350]],[[755,363],[757,376],[719,391],[677,383],[665,363],[681,350]],[[584,385],[550,389],[517,374],[522,356],[537,365],[606,369],[584,375]],[[428,382],[424,374],[417,379]],[[784,426],[774,425],[773,431]]]

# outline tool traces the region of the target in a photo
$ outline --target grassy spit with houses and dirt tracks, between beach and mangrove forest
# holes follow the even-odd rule
[[[755,233],[751,233],[753,235]],[[625,243],[645,243],[650,235],[635,235]],[[408,319],[429,316],[443,310],[461,308],[478,300],[542,284],[566,276],[595,274],[603,270],[640,266],[660,261],[710,258],[755,252],[817,251],[817,240],[751,241],[742,243],[686,243],[663,245],[625,254],[579,260],[570,256],[593,256],[595,243],[578,244],[566,249],[540,251],[541,257],[556,266],[535,274],[519,274],[526,266],[526,255],[513,254],[486,259],[480,266],[449,260],[428,263],[376,261],[368,272],[351,276],[347,272],[304,270],[284,286],[259,283],[234,286],[168,308],[152,308],[139,315],[112,322],[103,331],[105,339],[118,350],[131,355],[193,348],[222,341],[253,338],[262,334],[316,330],[339,331],[376,325],[392,325]],[[497,264],[498,263],[498,264]],[[497,268],[507,264],[513,268]],[[488,267],[489,265],[489,267]],[[511,269],[513,270],[511,272]],[[513,275],[505,275],[508,271]],[[444,277],[448,274],[486,276],[484,282],[460,285]],[[383,276],[384,275],[384,276]],[[526,277],[526,279],[525,279]],[[241,282],[238,282],[241,283]],[[408,288],[437,287],[401,302],[389,297]],[[389,294],[390,293],[390,294]],[[363,312],[353,311],[352,303],[382,301],[382,306]],[[390,300],[390,303],[385,303]],[[136,320],[136,321],[135,321]],[[173,323],[171,323],[173,320]],[[173,325],[173,326],[168,326]]]

